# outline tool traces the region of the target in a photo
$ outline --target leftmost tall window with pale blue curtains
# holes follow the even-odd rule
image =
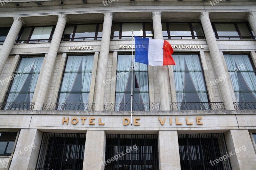
[[[7,92],[7,103],[31,103],[44,56],[23,56],[13,73],[13,80]],[[9,106],[8,106],[9,107]],[[12,108],[17,109],[14,105]],[[5,108],[7,109],[7,108]],[[26,108],[24,108],[26,109]]]

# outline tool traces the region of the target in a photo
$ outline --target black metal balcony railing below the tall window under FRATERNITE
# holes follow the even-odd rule
[[[170,103],[171,110],[225,110],[223,102]]]

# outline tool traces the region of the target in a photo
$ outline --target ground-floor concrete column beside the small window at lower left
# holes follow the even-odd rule
[[[35,170],[43,133],[37,129],[21,129],[9,170]]]

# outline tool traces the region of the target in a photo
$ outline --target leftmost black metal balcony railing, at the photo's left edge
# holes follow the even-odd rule
[[[0,110],[33,110],[35,103],[0,103]]]

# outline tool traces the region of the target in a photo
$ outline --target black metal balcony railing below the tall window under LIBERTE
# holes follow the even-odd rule
[[[43,110],[94,110],[94,103],[44,103]]]

